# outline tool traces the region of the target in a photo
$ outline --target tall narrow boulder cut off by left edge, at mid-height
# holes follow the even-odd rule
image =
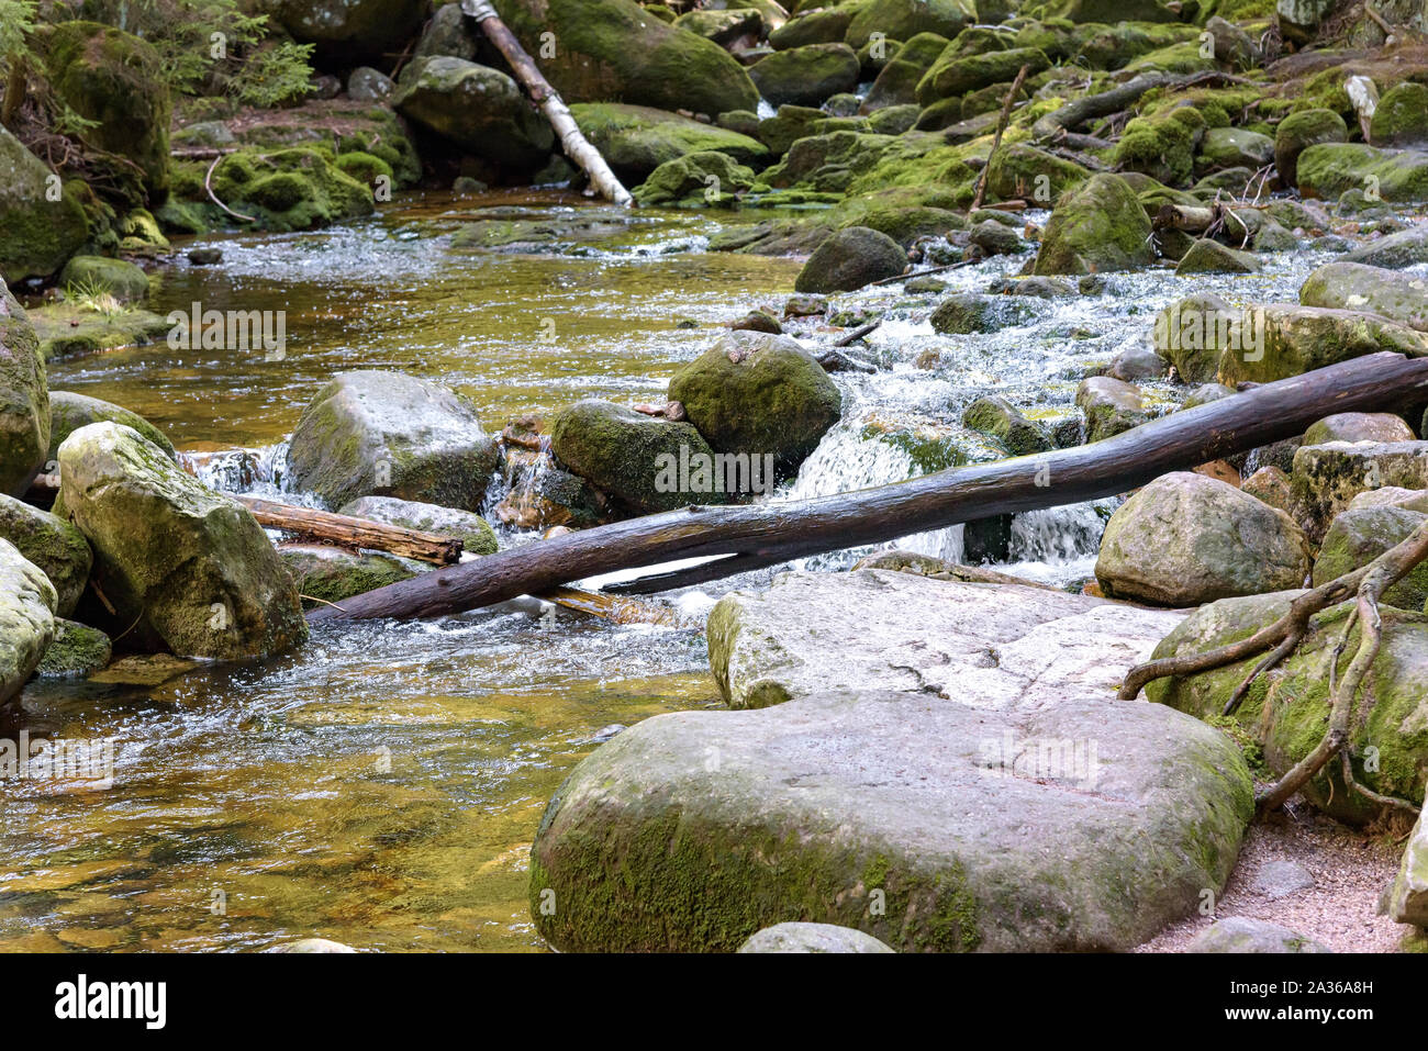
[[[44,358],[24,307],[0,281],[0,493],[23,496],[49,447]]]

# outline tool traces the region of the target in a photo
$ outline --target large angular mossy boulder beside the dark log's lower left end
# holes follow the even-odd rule
[[[131,648],[240,658],[307,638],[297,591],[248,510],[137,431],[96,423],[70,434],[60,500],[114,608],[86,621],[124,631]]]

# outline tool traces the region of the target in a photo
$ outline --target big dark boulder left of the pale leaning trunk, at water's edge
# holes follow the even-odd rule
[[[463,151],[514,171],[547,161],[555,133],[500,70],[464,59],[417,59],[391,96],[397,113]]]

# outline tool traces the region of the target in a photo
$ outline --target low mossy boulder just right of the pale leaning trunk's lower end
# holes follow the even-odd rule
[[[580,103],[570,107],[570,114],[614,173],[631,183],[691,153],[723,153],[741,166],[761,164],[768,157],[768,149],[755,139],[648,106]]]

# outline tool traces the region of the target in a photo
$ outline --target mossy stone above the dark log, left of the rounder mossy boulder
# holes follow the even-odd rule
[[[713,464],[714,450],[688,423],[585,398],[555,414],[550,443],[571,473],[644,514],[725,500],[713,490],[713,474],[695,474],[703,458]],[[678,470],[683,463],[690,464],[688,477],[671,476],[668,467]]]

